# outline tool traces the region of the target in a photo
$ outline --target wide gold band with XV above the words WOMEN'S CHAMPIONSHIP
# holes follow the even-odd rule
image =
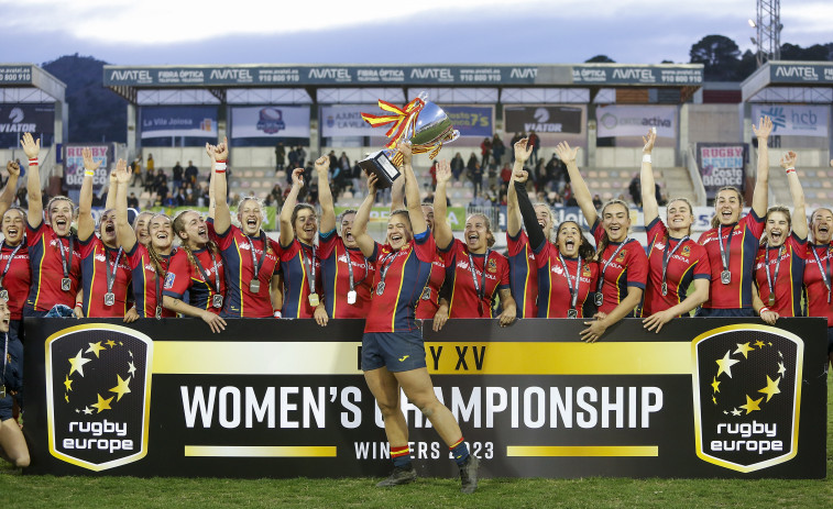
[[[361,342],[157,341],[156,375],[359,375]],[[691,343],[426,343],[432,375],[690,375]],[[438,357],[435,367],[435,356]]]

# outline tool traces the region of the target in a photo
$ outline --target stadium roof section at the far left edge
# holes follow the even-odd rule
[[[0,102],[61,102],[66,85],[34,64],[0,64]]]

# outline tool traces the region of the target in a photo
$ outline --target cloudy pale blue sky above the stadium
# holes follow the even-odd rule
[[[689,62],[709,34],[742,51],[755,0],[0,0],[1,63]],[[833,42],[833,1],[781,2],[781,42]]]

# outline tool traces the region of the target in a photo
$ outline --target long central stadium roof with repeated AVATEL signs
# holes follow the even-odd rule
[[[410,99],[426,88],[440,102],[587,103],[600,95],[609,98],[604,102],[615,102],[617,88],[672,89],[676,93],[666,97],[682,102],[702,82],[700,64],[108,65],[103,68],[105,87],[134,104],[363,103],[392,95]]]

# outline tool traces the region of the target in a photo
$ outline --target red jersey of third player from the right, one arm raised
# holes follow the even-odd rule
[[[764,225],[764,220],[758,218],[754,210],[749,210],[749,213],[734,225],[713,228],[700,235],[697,242],[705,247],[712,269],[709,300],[703,303],[703,308],[752,308],[752,273]],[[721,230],[723,236],[717,242]],[[721,280],[723,262],[720,243],[726,245],[730,232],[732,232],[732,245],[728,250],[728,272],[732,274],[732,279],[728,285],[724,285]]]

